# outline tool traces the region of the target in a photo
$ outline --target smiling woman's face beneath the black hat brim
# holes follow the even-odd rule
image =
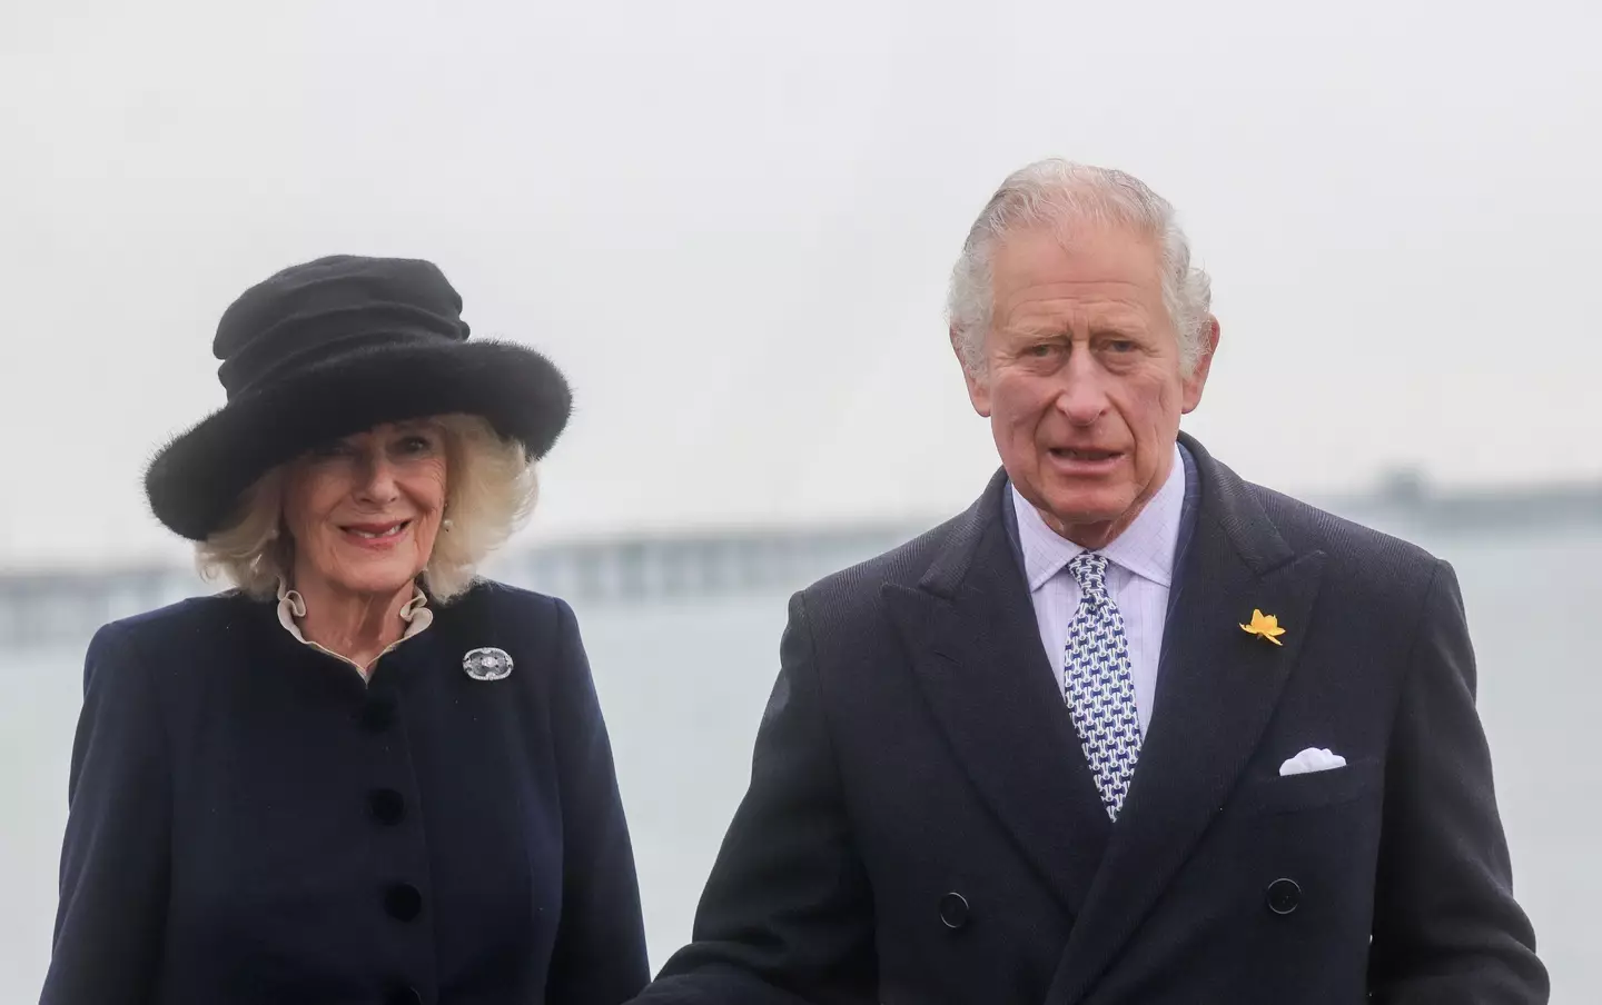
[[[396,594],[428,565],[445,511],[445,435],[437,422],[376,426],[288,466],[284,522],[295,586]]]

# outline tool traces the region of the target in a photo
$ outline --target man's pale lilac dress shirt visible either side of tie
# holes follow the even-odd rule
[[[1168,480],[1134,523],[1101,549],[1107,557],[1107,592],[1123,615],[1123,631],[1129,639],[1129,672],[1134,677],[1134,704],[1142,735],[1152,722],[1152,703],[1157,699],[1157,661],[1163,653],[1168,589],[1173,584],[1184,502],[1185,466],[1176,445]],[[1062,691],[1067,683],[1064,656],[1069,624],[1080,607],[1080,584],[1067,567],[1086,549],[1046,527],[1016,486],[1012,509],[1017,514],[1017,538],[1030,600],[1035,603],[1035,623],[1040,626],[1040,643],[1057,671],[1057,690]]]

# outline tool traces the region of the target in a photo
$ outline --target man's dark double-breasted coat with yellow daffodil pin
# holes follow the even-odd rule
[[[694,943],[641,1005],[1548,1000],[1451,568],[1182,442],[1200,491],[1117,824],[998,472],[791,600]],[[1306,747],[1347,767],[1282,776]]]

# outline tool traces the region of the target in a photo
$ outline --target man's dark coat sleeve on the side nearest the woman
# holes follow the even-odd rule
[[[804,594],[790,602],[751,784],[724,837],[694,941],[650,1005],[878,1002],[873,903],[830,744]]]

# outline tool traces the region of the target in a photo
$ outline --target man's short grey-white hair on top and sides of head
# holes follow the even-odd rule
[[[1179,360],[1190,374],[1206,350],[1213,280],[1190,264],[1190,240],[1174,208],[1139,178],[1062,158],[1035,162],[1001,182],[963,242],[952,269],[947,320],[969,373],[985,371],[995,290],[992,258],[1008,235],[1070,224],[1120,226],[1152,238],[1161,250],[1163,306],[1179,338]]]

